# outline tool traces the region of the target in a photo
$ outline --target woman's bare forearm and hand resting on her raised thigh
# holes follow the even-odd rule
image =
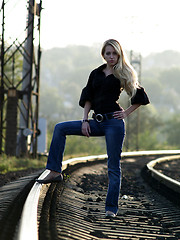
[[[84,117],[83,120],[88,120],[88,115],[91,110],[91,102],[86,101],[84,105]],[[90,137],[91,129],[88,122],[82,122],[82,134],[86,137]]]

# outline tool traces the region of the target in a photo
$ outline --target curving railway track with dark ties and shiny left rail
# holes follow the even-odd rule
[[[120,207],[115,219],[105,218],[104,213],[106,155],[64,162],[65,181],[35,183],[16,233],[7,239],[180,239],[180,207],[159,195],[141,176],[153,179],[149,169],[141,170],[158,155],[166,154],[124,154]],[[43,172],[41,178],[46,174]]]

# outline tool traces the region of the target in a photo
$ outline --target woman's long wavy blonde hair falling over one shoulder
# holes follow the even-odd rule
[[[117,64],[113,67],[114,75],[120,80],[122,89],[124,89],[127,94],[132,97],[135,95],[139,86],[137,73],[129,63],[120,43],[117,40],[109,39],[104,42],[101,50],[103,58],[106,46],[108,45],[112,46],[119,56]]]

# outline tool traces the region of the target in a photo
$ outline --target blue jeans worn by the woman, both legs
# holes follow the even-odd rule
[[[123,120],[108,119],[101,123],[90,120],[91,136],[105,136],[108,155],[108,192],[106,197],[106,211],[117,213],[118,199],[121,187],[121,152],[125,135]],[[56,172],[62,170],[63,153],[66,143],[66,135],[83,136],[81,121],[68,121],[58,123],[55,126],[50,146],[46,168]]]

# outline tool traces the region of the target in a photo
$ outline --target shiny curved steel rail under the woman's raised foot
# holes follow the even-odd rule
[[[180,154],[180,150],[159,150],[159,151],[137,151],[137,152],[124,152],[122,153],[122,157],[140,157],[140,156],[150,156],[150,155],[176,155]],[[65,170],[69,165],[76,165],[78,163],[86,163],[87,161],[96,161],[96,160],[105,160],[107,155],[97,155],[97,156],[87,156],[87,157],[79,157],[72,158],[62,163],[62,170]],[[153,162],[153,161],[152,161]],[[153,171],[153,167],[148,166],[149,170]],[[48,170],[45,170],[39,177],[39,179],[43,179],[47,174]],[[160,176],[160,175],[159,175]],[[40,192],[42,189],[42,185],[39,183],[35,183],[27,197],[27,200],[23,207],[22,216],[20,219],[19,229],[18,229],[18,240],[38,240],[38,226],[37,226],[37,208]]]

